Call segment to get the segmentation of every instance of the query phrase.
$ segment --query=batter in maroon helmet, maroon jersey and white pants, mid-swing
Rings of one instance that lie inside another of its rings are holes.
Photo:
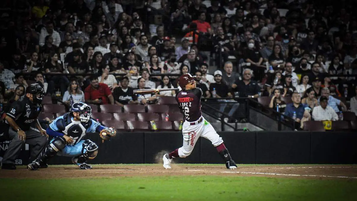
[[[189,73],[181,75],[178,84],[182,90],[176,94],[176,100],[185,118],[185,122],[182,125],[183,144],[182,147],[162,157],[165,169],[171,169],[172,158],[185,158],[189,156],[199,137],[204,137],[212,142],[226,162],[228,169],[237,168],[222,138],[217,134],[212,125],[202,117],[202,90],[196,88],[196,82],[192,75]]]

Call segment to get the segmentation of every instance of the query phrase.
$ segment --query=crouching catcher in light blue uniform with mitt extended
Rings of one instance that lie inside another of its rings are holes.
[[[56,118],[47,128],[47,133],[54,138],[27,168],[37,170],[51,157],[58,155],[72,157],[72,163],[80,169],[91,169],[92,166],[86,162],[97,156],[98,145],[82,138],[90,132],[100,132],[103,141],[116,135],[115,129],[104,127],[90,118],[91,112],[91,107],[85,103],[72,104],[71,112]]]

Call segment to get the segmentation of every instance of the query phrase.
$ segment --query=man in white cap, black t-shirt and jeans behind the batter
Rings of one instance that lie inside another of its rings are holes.
[[[211,83],[210,84],[210,93],[213,98],[233,98],[233,95],[228,89],[228,86],[224,83],[222,83],[222,72],[220,70],[216,70],[215,73],[213,73],[215,76],[215,81],[216,83]],[[232,117],[233,114],[236,112],[236,110],[239,107],[239,103],[237,103],[235,100],[229,100],[229,99],[217,99],[218,102],[220,102],[220,112],[224,112],[225,108],[227,107],[227,103],[230,106],[232,106],[231,110],[228,112],[228,116]],[[221,115],[218,115],[221,116]],[[227,122],[228,118],[224,118],[224,121]]]

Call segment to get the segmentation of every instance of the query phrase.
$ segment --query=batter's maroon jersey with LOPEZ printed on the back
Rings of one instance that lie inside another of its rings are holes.
[[[201,96],[202,90],[197,87],[191,90],[182,90],[176,94],[178,107],[181,109],[183,118],[188,122],[197,121],[201,117]]]

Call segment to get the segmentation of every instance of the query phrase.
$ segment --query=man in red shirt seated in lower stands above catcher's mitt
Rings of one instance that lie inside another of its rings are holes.
[[[91,77],[91,84],[84,90],[84,98],[89,104],[114,104],[114,98],[108,85],[99,83],[98,78]]]

